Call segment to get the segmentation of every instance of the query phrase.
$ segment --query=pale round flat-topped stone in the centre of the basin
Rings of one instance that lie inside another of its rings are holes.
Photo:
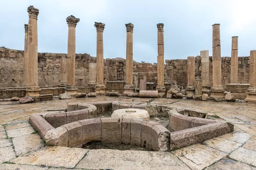
[[[143,109],[134,109],[134,108],[127,108],[127,109],[118,109],[113,111],[111,117],[118,117],[118,118],[139,118],[144,120],[149,120],[148,111]]]

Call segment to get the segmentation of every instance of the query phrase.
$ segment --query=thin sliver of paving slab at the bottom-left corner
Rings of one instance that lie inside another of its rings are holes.
[[[37,167],[21,164],[0,164],[0,170],[48,170],[48,167]]]

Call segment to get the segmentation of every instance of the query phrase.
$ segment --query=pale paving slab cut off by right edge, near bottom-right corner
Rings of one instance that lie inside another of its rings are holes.
[[[244,147],[239,147],[237,150],[233,151],[230,155],[231,159],[244,162],[256,166],[256,151],[250,150]]]

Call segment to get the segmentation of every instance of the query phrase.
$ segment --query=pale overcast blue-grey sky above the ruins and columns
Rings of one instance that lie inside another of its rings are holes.
[[[221,24],[222,57],[231,54],[232,36],[239,36],[239,56],[256,50],[256,0],[1,0],[0,46],[24,49],[30,5],[39,9],[38,52],[67,53],[69,15],[80,18],[76,53],[94,57],[95,21],[106,24],[104,58],[125,58],[126,23],[134,24],[137,62],[157,62],[157,23],[164,23],[165,59],[212,55],[214,23]]]

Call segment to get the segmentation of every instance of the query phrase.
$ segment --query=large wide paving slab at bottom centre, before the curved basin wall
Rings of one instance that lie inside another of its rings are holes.
[[[90,150],[76,168],[111,170],[189,170],[170,152]]]

